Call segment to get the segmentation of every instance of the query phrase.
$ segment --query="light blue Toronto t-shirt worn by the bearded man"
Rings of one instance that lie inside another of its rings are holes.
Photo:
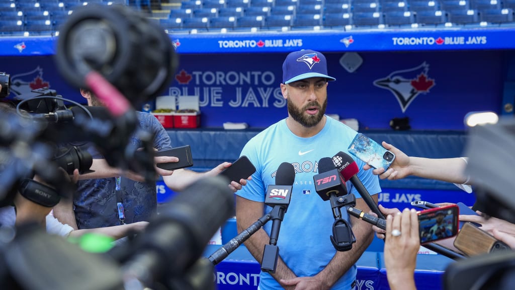
[[[315,191],[313,175],[318,174],[318,160],[332,157],[347,148],[357,134],[343,123],[330,117],[317,135],[301,138],[289,130],[286,119],[271,125],[253,137],[245,145],[241,155],[246,155],[256,167],[252,180],[236,195],[243,198],[264,202],[268,185],[276,184],[275,175],[279,165],[288,162],[295,168],[295,183],[291,201],[284,214],[277,241],[279,255],[297,277],[311,277],[329,264],[336,253],[330,236],[334,222],[331,204],[323,201]],[[355,158],[360,168],[357,174],[371,195],[381,192],[379,179],[371,170],[362,170],[365,165]],[[361,196],[350,182],[348,192],[356,198]],[[265,206],[265,212],[272,207]],[[342,217],[349,220],[345,208]],[[265,224],[265,231],[270,234],[271,222]],[[359,240],[356,241],[359,243]],[[356,266],[350,268],[332,289],[350,289],[356,278]],[[261,272],[260,289],[282,289],[280,284],[267,272]]]

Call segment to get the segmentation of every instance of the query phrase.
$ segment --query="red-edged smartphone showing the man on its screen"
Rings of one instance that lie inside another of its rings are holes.
[[[418,212],[420,244],[455,236],[459,207],[456,204]]]

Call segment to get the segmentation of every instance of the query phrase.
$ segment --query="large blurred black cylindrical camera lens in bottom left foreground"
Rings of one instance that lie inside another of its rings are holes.
[[[181,279],[201,257],[215,232],[234,212],[233,192],[220,176],[202,178],[177,195],[127,248],[122,271],[126,283],[150,288]],[[213,286],[214,266],[204,264],[205,283]],[[172,287],[174,288],[174,287]],[[192,289],[193,286],[177,289]],[[204,289],[204,288],[200,288]]]

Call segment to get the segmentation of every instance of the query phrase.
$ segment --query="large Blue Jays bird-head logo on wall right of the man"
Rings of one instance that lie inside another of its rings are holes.
[[[428,76],[428,71],[429,65],[423,62],[415,68],[394,71],[385,78],[374,80],[373,84],[392,92],[402,112],[405,112],[420,93],[427,93],[435,86],[435,80]]]

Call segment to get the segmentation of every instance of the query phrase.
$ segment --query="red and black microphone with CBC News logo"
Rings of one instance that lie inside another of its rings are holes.
[[[386,219],[383,213],[379,210],[377,203],[375,203],[375,201],[370,196],[367,188],[357,177],[356,174],[359,172],[359,169],[354,159],[352,159],[349,154],[340,151],[333,156],[333,162],[336,168],[338,168],[340,174],[343,176],[344,180],[350,180],[352,182],[352,185],[354,185],[357,192],[359,192],[359,195],[361,195],[361,197],[365,200],[368,207],[370,207],[370,210],[372,210],[372,212],[375,213],[378,217]]]

